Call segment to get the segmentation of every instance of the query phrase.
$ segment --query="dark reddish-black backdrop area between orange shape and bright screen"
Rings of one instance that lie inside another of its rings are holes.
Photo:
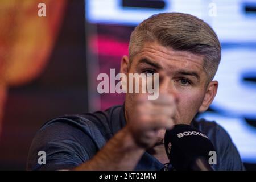
[[[0,137],[0,169],[26,169],[36,131],[48,119],[88,110],[84,1],[68,1],[49,63],[26,86],[10,88]]]

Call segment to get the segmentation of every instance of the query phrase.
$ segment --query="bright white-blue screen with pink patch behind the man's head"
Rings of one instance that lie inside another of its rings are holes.
[[[256,1],[242,0],[88,0],[89,109],[122,104],[120,94],[96,93],[97,74],[119,70],[128,53],[130,33],[149,16],[162,12],[195,15],[216,31],[222,59],[214,80],[218,93],[209,110],[198,115],[216,121],[228,131],[245,163],[256,164]],[[93,71],[93,72],[90,72]]]

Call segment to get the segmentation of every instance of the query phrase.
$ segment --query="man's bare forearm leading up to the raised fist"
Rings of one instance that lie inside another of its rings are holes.
[[[75,170],[133,170],[144,151],[124,127],[92,159]]]

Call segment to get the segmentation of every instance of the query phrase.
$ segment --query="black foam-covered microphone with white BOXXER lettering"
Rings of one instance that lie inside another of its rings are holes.
[[[175,125],[166,130],[164,147],[172,166],[178,171],[213,171],[209,152],[215,151],[207,135],[190,125]]]

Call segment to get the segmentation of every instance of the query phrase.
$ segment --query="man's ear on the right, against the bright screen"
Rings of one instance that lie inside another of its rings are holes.
[[[218,90],[218,82],[211,81],[209,83],[209,85],[207,86],[204,100],[203,100],[201,106],[199,107],[200,113],[203,113],[204,111],[206,111],[209,108],[210,104],[212,104],[212,101],[213,101],[214,97],[216,96],[217,90]]]

